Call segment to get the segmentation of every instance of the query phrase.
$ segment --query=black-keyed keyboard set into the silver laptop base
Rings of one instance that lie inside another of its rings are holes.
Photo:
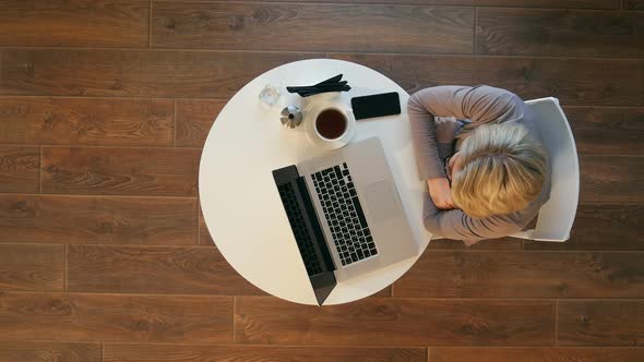
[[[342,265],[378,254],[347,164],[311,176]]]

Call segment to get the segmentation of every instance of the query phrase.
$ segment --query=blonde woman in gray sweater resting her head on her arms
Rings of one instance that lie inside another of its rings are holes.
[[[539,123],[516,95],[485,85],[431,87],[409,98],[408,116],[429,188],[425,227],[434,237],[467,245],[505,237],[548,201]]]

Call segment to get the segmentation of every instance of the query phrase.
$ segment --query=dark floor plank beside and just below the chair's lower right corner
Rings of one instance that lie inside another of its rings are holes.
[[[570,240],[524,242],[526,250],[644,250],[644,205],[580,205]]]

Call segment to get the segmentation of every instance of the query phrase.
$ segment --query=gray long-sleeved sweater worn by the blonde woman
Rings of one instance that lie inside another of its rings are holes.
[[[541,142],[539,123],[529,107],[505,89],[486,85],[431,87],[414,94],[407,107],[421,180],[444,177],[442,159],[458,148],[462,141],[480,124],[522,124],[530,136]],[[437,117],[468,121],[463,126],[451,126],[450,122],[437,122]],[[463,240],[467,245],[484,239],[506,237],[523,230],[537,216],[549,195],[550,177],[539,196],[527,208],[482,219],[470,217],[461,209],[438,209],[427,195],[424,206],[425,228],[434,237]]]

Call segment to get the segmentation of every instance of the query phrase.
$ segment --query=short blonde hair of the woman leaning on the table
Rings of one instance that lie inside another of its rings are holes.
[[[527,207],[546,181],[546,152],[521,125],[480,125],[463,142],[452,180],[456,205],[484,218]]]

